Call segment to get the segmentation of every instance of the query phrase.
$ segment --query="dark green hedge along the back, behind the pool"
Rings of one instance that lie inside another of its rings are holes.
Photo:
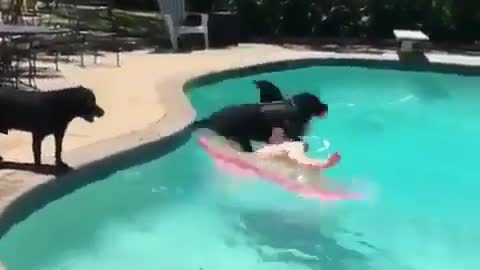
[[[150,7],[156,0],[116,0]],[[480,0],[188,0],[191,10],[238,12],[244,36],[392,38],[393,29],[420,29],[432,40],[480,39]]]

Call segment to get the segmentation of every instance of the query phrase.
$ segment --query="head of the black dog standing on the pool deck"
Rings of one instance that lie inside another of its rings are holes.
[[[97,105],[95,94],[92,90],[83,86],[74,89],[76,114],[78,117],[85,119],[88,122],[93,122],[95,117],[102,117],[105,111]]]

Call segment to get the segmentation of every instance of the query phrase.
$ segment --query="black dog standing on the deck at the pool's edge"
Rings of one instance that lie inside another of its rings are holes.
[[[82,86],[48,92],[0,92],[0,133],[8,134],[10,129],[32,133],[35,165],[41,165],[43,139],[53,134],[56,165],[67,166],[62,161],[62,143],[68,124],[76,117],[93,122],[103,115],[92,90]]]

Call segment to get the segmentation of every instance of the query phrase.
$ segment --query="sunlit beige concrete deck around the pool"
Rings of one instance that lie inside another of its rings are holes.
[[[480,66],[480,57],[426,54],[431,63]],[[187,126],[195,112],[183,93],[194,77],[269,62],[295,59],[368,59],[397,61],[394,51],[383,54],[338,54],[300,51],[279,46],[244,44],[239,47],[196,51],[187,54],[152,54],[136,51],[122,55],[122,67],[114,68],[114,55],[102,63],[82,69],[75,64],[60,66],[61,83],[39,83],[42,89],[82,84],[92,88],[106,115],[95,123],[74,120],[64,142],[64,160],[74,168],[103,160],[136,146],[168,137]],[[0,138],[5,161],[31,163],[29,134],[12,132]],[[52,164],[53,140],[43,144],[43,160]],[[51,174],[35,173],[28,166],[0,170],[0,223],[9,206],[29,191],[52,181]],[[22,169],[20,168],[20,169]],[[61,184],[61,183],[58,183]],[[1,266],[0,266],[1,269]]]

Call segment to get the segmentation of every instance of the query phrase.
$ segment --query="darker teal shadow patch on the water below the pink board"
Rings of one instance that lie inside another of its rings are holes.
[[[340,245],[332,231],[322,230],[328,225],[320,219],[273,210],[244,211],[240,216],[243,226],[237,230],[264,261],[303,264],[311,269],[369,269],[368,258]]]

